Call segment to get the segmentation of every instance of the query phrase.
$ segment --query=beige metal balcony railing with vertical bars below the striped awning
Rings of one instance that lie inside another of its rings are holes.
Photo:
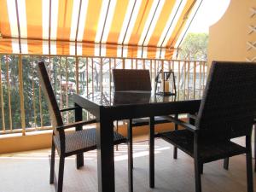
[[[161,68],[175,73],[177,96],[198,97],[207,79],[207,61],[180,61],[81,56],[0,55],[0,134],[50,129],[46,101],[37,74],[38,61],[48,66],[60,108],[73,106],[73,93],[112,91],[113,68],[148,69],[154,79]],[[85,115],[88,115],[84,112]],[[63,114],[67,121],[72,112]]]

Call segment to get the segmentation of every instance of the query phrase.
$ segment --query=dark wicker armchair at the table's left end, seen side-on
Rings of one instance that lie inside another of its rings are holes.
[[[54,91],[49,82],[49,76],[44,66],[44,62],[38,63],[38,75],[44,96],[48,103],[49,114],[53,126],[51,160],[50,160],[50,177],[49,183],[54,183],[55,179],[55,148],[60,155],[59,175],[55,189],[57,192],[62,191],[64,162],[67,156],[78,154],[83,155],[83,152],[96,149],[96,129],[82,129],[82,125],[96,123],[95,119],[88,121],[79,121],[68,125],[63,124],[61,111],[72,110],[75,108],[67,108],[60,110],[55,99]],[[76,128],[76,131],[67,131],[69,128]],[[114,144],[126,143],[126,138],[114,132]],[[82,164],[82,165],[81,165]],[[83,166],[84,162],[78,165],[77,168]]]

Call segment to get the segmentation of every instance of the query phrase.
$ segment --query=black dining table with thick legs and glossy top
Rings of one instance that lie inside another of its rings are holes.
[[[196,113],[201,98],[160,96],[146,91],[99,92],[73,95],[75,120],[82,120],[82,109],[96,117],[98,191],[114,189],[113,121],[149,119],[149,187],[154,188],[154,117],[178,113]],[[83,154],[77,156],[83,165]],[[130,167],[131,169],[131,167]]]

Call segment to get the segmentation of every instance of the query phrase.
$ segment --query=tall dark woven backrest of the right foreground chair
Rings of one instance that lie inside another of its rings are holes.
[[[195,121],[201,139],[251,134],[256,111],[256,63],[212,61]]]

